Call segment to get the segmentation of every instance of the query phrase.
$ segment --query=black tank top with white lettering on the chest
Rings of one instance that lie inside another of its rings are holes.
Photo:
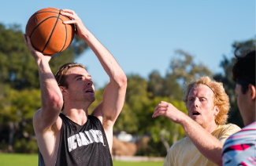
[[[55,165],[106,165],[113,166],[101,121],[88,115],[82,126],[60,114],[62,119],[61,137]],[[44,166],[43,156],[39,151],[39,166]]]

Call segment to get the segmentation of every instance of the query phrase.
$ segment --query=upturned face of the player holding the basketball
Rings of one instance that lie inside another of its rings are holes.
[[[94,102],[95,87],[91,81],[91,75],[82,67],[72,67],[66,73],[65,95],[72,101]]]

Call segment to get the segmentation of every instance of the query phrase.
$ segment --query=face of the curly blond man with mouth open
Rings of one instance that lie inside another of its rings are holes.
[[[214,117],[218,110],[214,106],[213,95],[213,91],[206,85],[195,85],[188,94],[187,114],[202,128],[215,124]]]

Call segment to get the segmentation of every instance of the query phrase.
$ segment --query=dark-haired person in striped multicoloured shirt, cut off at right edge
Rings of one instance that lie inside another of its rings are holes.
[[[236,55],[232,74],[236,81],[237,104],[246,127],[231,135],[222,150],[223,165],[256,165],[256,51]]]

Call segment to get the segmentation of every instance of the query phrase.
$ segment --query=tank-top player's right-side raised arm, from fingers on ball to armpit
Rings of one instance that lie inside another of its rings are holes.
[[[82,21],[74,11],[62,9],[61,14],[72,18],[72,20],[65,21],[64,23],[76,24],[77,36],[83,38],[83,40],[87,42],[87,45],[89,45],[92,51],[95,52],[95,55],[102,64],[106,74],[109,75],[110,82],[106,85],[104,90],[102,103],[95,108],[92,115],[98,117],[99,120],[102,121],[111,150],[113,124],[117,120],[117,117],[124,106],[127,78],[124,71],[117,63],[117,60],[115,60],[111,53],[98,42],[97,38],[84,27]]]

